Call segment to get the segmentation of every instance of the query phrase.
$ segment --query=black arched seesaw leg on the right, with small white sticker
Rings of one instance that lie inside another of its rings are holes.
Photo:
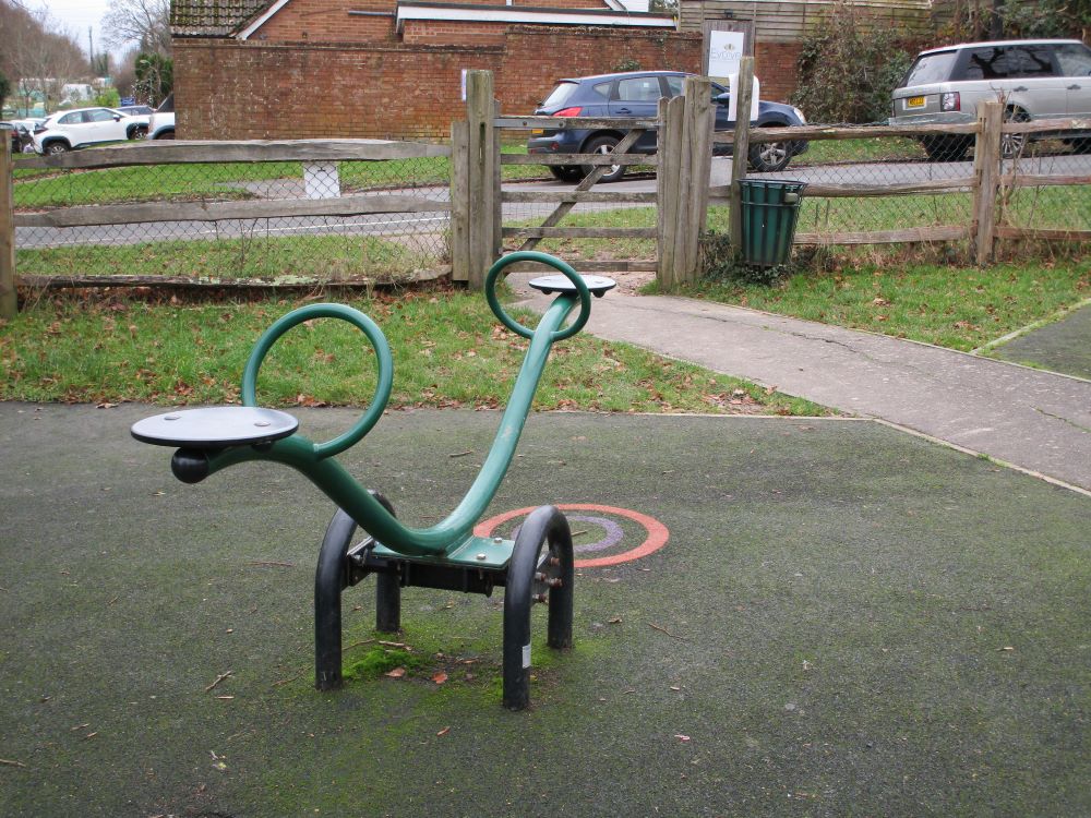
[[[572,533],[554,506],[542,506],[527,517],[515,540],[504,590],[504,707],[525,710],[530,705],[530,606],[535,573],[542,543],[549,541],[549,572],[560,584],[550,587],[549,645],[572,645]],[[555,596],[554,596],[555,594]],[[556,602],[556,610],[553,603]]]

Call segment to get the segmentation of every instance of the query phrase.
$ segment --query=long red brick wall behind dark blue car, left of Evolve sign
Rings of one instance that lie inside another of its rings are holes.
[[[700,36],[660,31],[509,29],[478,47],[176,39],[179,139],[446,139],[463,69],[495,76],[504,113],[529,113],[560,76],[700,70]]]

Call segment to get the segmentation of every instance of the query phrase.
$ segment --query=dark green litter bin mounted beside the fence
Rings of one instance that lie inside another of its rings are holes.
[[[792,255],[804,182],[743,179],[743,260],[758,267],[784,264]]]

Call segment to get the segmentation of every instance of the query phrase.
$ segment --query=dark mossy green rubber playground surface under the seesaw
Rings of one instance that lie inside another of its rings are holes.
[[[614,563],[578,569],[572,652],[536,611],[511,713],[502,590],[407,589],[392,638],[365,580],[315,691],[332,505],[271,466],[175,481],[128,434],[157,411],[0,404],[0,815],[1091,814],[1086,495],[868,421],[532,416],[489,516],[578,504]],[[341,459],[432,525],[496,421],[391,413]]]

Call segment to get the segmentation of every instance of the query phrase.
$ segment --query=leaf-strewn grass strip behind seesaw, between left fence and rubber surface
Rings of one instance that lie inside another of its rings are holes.
[[[379,323],[391,344],[391,408],[506,404],[526,342],[497,324],[481,296],[401,293],[352,303]],[[0,323],[0,400],[237,401],[252,345],[295,305],[43,300],[16,321]],[[277,344],[259,392],[271,406],[359,405],[370,399],[374,375],[367,340],[344,322],[321,321]],[[554,347],[536,406],[827,413],[805,400],[586,335]]]

